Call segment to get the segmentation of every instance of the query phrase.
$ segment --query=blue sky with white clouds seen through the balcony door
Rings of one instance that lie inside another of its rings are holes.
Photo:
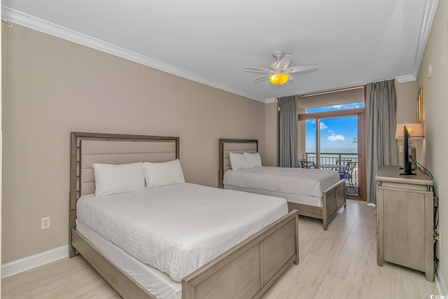
[[[335,111],[363,107],[364,103],[353,103],[306,109],[306,113]],[[321,127],[321,153],[356,153],[358,144],[358,118],[356,116],[323,118]],[[306,151],[314,153],[316,146],[316,120],[305,121]]]

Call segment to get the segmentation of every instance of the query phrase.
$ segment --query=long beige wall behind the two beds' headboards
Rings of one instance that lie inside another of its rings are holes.
[[[71,131],[179,136],[186,181],[207,186],[218,186],[219,138],[258,139],[266,160],[265,104],[19,25],[2,28],[2,263],[67,244]]]

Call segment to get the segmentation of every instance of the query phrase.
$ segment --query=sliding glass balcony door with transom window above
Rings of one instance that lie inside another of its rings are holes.
[[[299,97],[298,155],[346,180],[347,197],[365,200],[365,90]],[[331,106],[330,106],[331,105]]]

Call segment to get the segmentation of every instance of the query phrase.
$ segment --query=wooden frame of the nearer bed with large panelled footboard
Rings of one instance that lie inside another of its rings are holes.
[[[132,144],[141,142],[171,144],[169,147],[172,147],[172,151],[166,155],[165,153],[160,155],[158,151],[148,153],[150,157],[154,155],[158,157],[149,158],[149,162],[179,158],[179,137],[71,132],[69,256],[73,257],[76,253],[80,253],[123,298],[155,298],[132,277],[113,265],[76,230],[76,201],[81,195],[88,194],[87,191],[92,193],[92,185],[94,188],[94,182],[85,181],[85,177],[93,174],[91,169],[85,169],[82,165],[85,165],[87,160],[87,164],[90,164],[95,158],[94,155],[86,156],[82,162],[84,140],[102,141],[103,148],[109,141],[125,142],[127,148],[125,152],[109,151],[108,148],[106,153],[100,154],[101,159],[97,161],[118,164],[148,161],[148,157],[144,157],[145,154],[142,155],[140,150],[129,151]],[[120,146],[123,142],[120,142]],[[108,146],[109,144],[114,148],[113,144],[118,143],[109,142]],[[111,158],[108,158],[109,156]],[[182,298],[260,298],[290,265],[293,263],[297,265],[299,262],[297,215],[297,211],[290,211],[221,256],[188,274],[182,280]]]

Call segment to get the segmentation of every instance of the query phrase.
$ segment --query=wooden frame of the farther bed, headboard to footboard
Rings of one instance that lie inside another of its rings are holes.
[[[218,186],[224,188],[223,179],[224,173],[230,169],[229,153],[256,153],[258,152],[258,140],[255,139],[219,139],[219,174]],[[330,186],[322,195],[322,207],[314,207],[306,204],[297,204],[295,202],[288,202],[290,211],[297,210],[299,215],[309,216],[313,218],[322,219],[323,230],[327,230],[329,221],[337,214],[341,207],[346,207],[346,190],[345,180],[341,180]],[[241,188],[244,189],[244,188]],[[254,190],[247,190],[253,192]],[[272,196],[284,197],[284,194],[279,193],[260,193]]]

